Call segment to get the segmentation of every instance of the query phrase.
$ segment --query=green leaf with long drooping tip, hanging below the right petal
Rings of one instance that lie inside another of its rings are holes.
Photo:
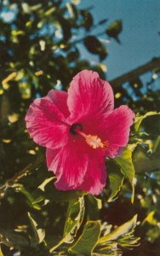
[[[117,165],[120,166],[121,172],[124,177],[129,180],[132,186],[132,196],[131,201],[134,202],[134,165],[132,162],[132,150],[129,147],[123,150],[123,154],[120,157],[115,158]]]

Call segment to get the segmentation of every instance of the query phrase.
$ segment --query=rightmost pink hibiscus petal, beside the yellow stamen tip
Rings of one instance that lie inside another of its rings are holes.
[[[128,106],[116,108],[101,122],[101,138],[109,142],[106,155],[113,158],[129,142],[130,126],[133,125],[134,112]]]

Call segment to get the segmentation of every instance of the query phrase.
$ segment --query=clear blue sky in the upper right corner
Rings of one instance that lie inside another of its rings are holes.
[[[95,23],[107,18],[108,26],[114,20],[123,20],[123,32],[120,34],[122,44],[114,40],[106,44],[109,55],[104,63],[108,79],[114,79],[160,56],[160,35],[157,33],[160,31],[160,0],[81,0],[80,8],[89,6],[94,6],[91,12]],[[103,27],[100,29],[102,31]],[[83,56],[97,60],[87,51],[83,52]]]

